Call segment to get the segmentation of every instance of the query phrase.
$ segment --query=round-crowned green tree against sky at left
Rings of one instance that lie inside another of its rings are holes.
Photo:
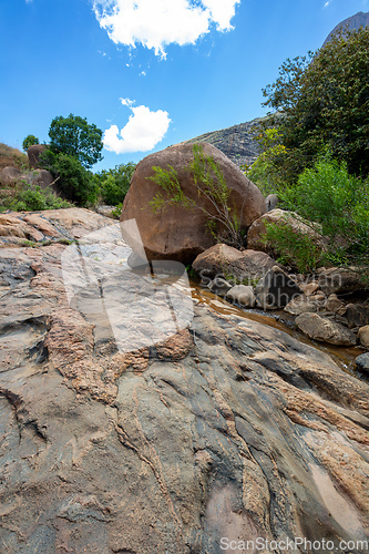
[[[79,115],[59,115],[50,124],[50,147],[57,153],[63,152],[75,157],[83,167],[89,168],[102,160],[102,133],[101,129]]]

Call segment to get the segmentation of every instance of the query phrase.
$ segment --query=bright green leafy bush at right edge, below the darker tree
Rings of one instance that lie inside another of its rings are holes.
[[[348,173],[347,165],[321,157],[312,168],[305,170],[298,183],[279,192],[284,207],[303,219],[320,225],[326,237],[319,250],[312,239],[288,232],[286,226],[267,226],[266,239],[274,244],[281,259],[294,255],[300,270],[320,263],[362,265],[369,252],[369,184]]]

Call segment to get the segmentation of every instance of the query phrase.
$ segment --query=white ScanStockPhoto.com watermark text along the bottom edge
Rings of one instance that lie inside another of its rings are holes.
[[[310,540],[303,536],[284,540],[268,540],[262,536],[252,541],[232,540],[227,536],[221,538],[221,550],[226,552],[327,552],[327,553],[349,553],[349,552],[369,552],[369,541],[339,541],[319,538]]]

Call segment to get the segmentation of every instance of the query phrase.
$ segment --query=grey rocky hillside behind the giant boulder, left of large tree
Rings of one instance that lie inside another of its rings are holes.
[[[221,129],[212,133],[185,141],[185,143],[208,142],[221,150],[238,166],[252,164],[259,154],[258,145],[253,141],[253,127],[260,121],[256,119],[232,127]]]

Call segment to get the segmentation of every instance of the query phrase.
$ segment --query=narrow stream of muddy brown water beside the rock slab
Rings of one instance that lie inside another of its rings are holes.
[[[268,325],[275,329],[287,332],[291,337],[305,342],[306,345],[314,346],[318,350],[328,353],[334,361],[347,373],[369,382],[369,377],[356,369],[355,359],[363,353],[360,347],[337,347],[332,345],[321,343],[316,340],[310,340],[305,337],[300,331],[298,331],[294,324],[294,318],[288,317],[283,310],[273,310],[270,312],[265,312],[257,309],[246,309],[238,305],[233,305],[227,300],[214,295],[207,289],[202,288],[195,283],[191,283],[192,296],[195,301],[199,304],[206,304],[218,314],[225,316],[238,316],[253,321],[258,321],[259,324]]]

